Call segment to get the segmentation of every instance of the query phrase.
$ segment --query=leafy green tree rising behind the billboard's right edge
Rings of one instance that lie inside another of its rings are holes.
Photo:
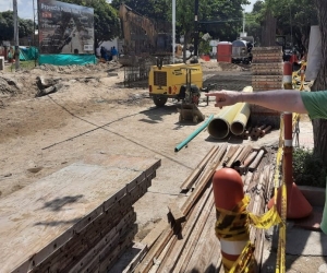
[[[66,0],[65,2],[94,9],[95,48],[104,40],[120,36],[121,27],[118,12],[106,0]]]

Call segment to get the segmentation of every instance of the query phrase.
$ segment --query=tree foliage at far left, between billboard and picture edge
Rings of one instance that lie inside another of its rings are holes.
[[[12,40],[14,38],[13,12],[0,12],[0,40]],[[33,35],[33,21],[19,19],[20,38]]]

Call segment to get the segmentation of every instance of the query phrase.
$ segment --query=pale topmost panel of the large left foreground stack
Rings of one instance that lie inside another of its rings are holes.
[[[1,199],[3,272],[38,265],[72,238],[80,221],[94,211],[98,214],[102,203],[143,171],[78,163]]]

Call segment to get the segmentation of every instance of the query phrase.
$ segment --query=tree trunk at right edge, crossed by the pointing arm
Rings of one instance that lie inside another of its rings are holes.
[[[318,12],[319,28],[322,33],[322,64],[312,91],[327,91],[327,2],[314,0]],[[326,106],[327,107],[327,106]],[[327,120],[313,120],[314,154],[319,156],[327,165]]]

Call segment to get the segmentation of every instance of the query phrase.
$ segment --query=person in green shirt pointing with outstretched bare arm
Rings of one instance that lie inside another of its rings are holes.
[[[327,92],[296,92],[293,90],[271,90],[263,92],[221,91],[205,94],[216,97],[216,107],[250,103],[277,111],[308,114],[311,119],[327,119]],[[322,230],[327,234],[327,206],[324,207]]]

